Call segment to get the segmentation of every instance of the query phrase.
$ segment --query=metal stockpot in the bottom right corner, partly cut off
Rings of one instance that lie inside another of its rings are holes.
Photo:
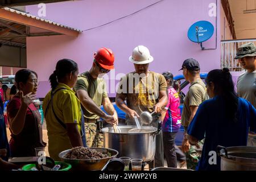
[[[217,147],[221,171],[256,171],[256,147]]]

